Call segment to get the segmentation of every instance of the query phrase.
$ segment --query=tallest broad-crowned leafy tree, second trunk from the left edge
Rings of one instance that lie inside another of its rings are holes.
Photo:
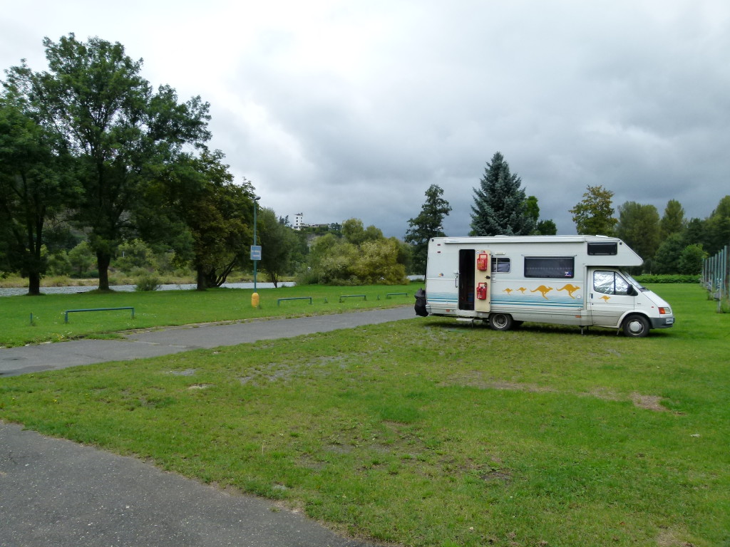
[[[122,44],[99,38],[80,42],[74,34],[43,41],[48,71],[26,75],[28,101],[44,125],[53,126],[77,160],[84,192],[76,220],[88,229],[96,253],[99,289],[109,288],[108,269],[115,248],[134,226],[142,182],[171,163],[186,145],[210,138],[208,104],[199,97],[180,104],[174,89],[154,93]]]

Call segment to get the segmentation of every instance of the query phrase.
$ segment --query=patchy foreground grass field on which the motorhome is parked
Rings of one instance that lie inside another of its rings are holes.
[[[730,315],[656,290],[649,338],[420,318],[0,379],[0,418],[399,545],[727,547]]]

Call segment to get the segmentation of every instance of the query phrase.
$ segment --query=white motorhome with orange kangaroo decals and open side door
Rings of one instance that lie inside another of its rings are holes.
[[[610,327],[627,336],[674,325],[669,304],[621,271],[642,258],[605,236],[432,238],[426,311],[482,319]]]

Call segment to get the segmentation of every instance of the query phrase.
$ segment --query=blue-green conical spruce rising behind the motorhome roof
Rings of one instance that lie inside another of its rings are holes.
[[[480,187],[474,189],[471,236],[527,236],[534,220],[527,210],[522,179],[510,173],[510,165],[495,152],[484,169]]]

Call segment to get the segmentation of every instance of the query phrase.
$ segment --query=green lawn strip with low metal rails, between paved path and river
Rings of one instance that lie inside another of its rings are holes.
[[[260,306],[251,306],[253,290],[211,289],[151,292],[81,292],[71,295],[0,297],[0,346],[22,346],[46,341],[93,336],[120,330],[191,323],[243,321],[261,317],[337,314],[356,309],[413,304],[419,284],[370,287],[280,287],[259,289]],[[391,293],[403,293],[388,296]],[[365,298],[342,295],[364,295]],[[280,298],[311,297],[309,300]],[[69,314],[68,309],[134,307],[131,311],[94,311]],[[33,323],[31,324],[31,316]]]

